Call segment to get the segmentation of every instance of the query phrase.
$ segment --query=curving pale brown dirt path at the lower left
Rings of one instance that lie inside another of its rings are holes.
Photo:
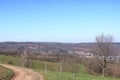
[[[14,71],[15,76],[12,80],[44,80],[42,75],[32,70],[6,64],[2,66],[12,69]]]

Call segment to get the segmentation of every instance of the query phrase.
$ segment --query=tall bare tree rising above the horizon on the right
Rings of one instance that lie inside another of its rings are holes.
[[[114,55],[113,36],[111,35],[98,35],[94,47],[94,53],[97,60],[102,66],[102,77],[105,76],[105,69],[107,67],[108,58]]]

